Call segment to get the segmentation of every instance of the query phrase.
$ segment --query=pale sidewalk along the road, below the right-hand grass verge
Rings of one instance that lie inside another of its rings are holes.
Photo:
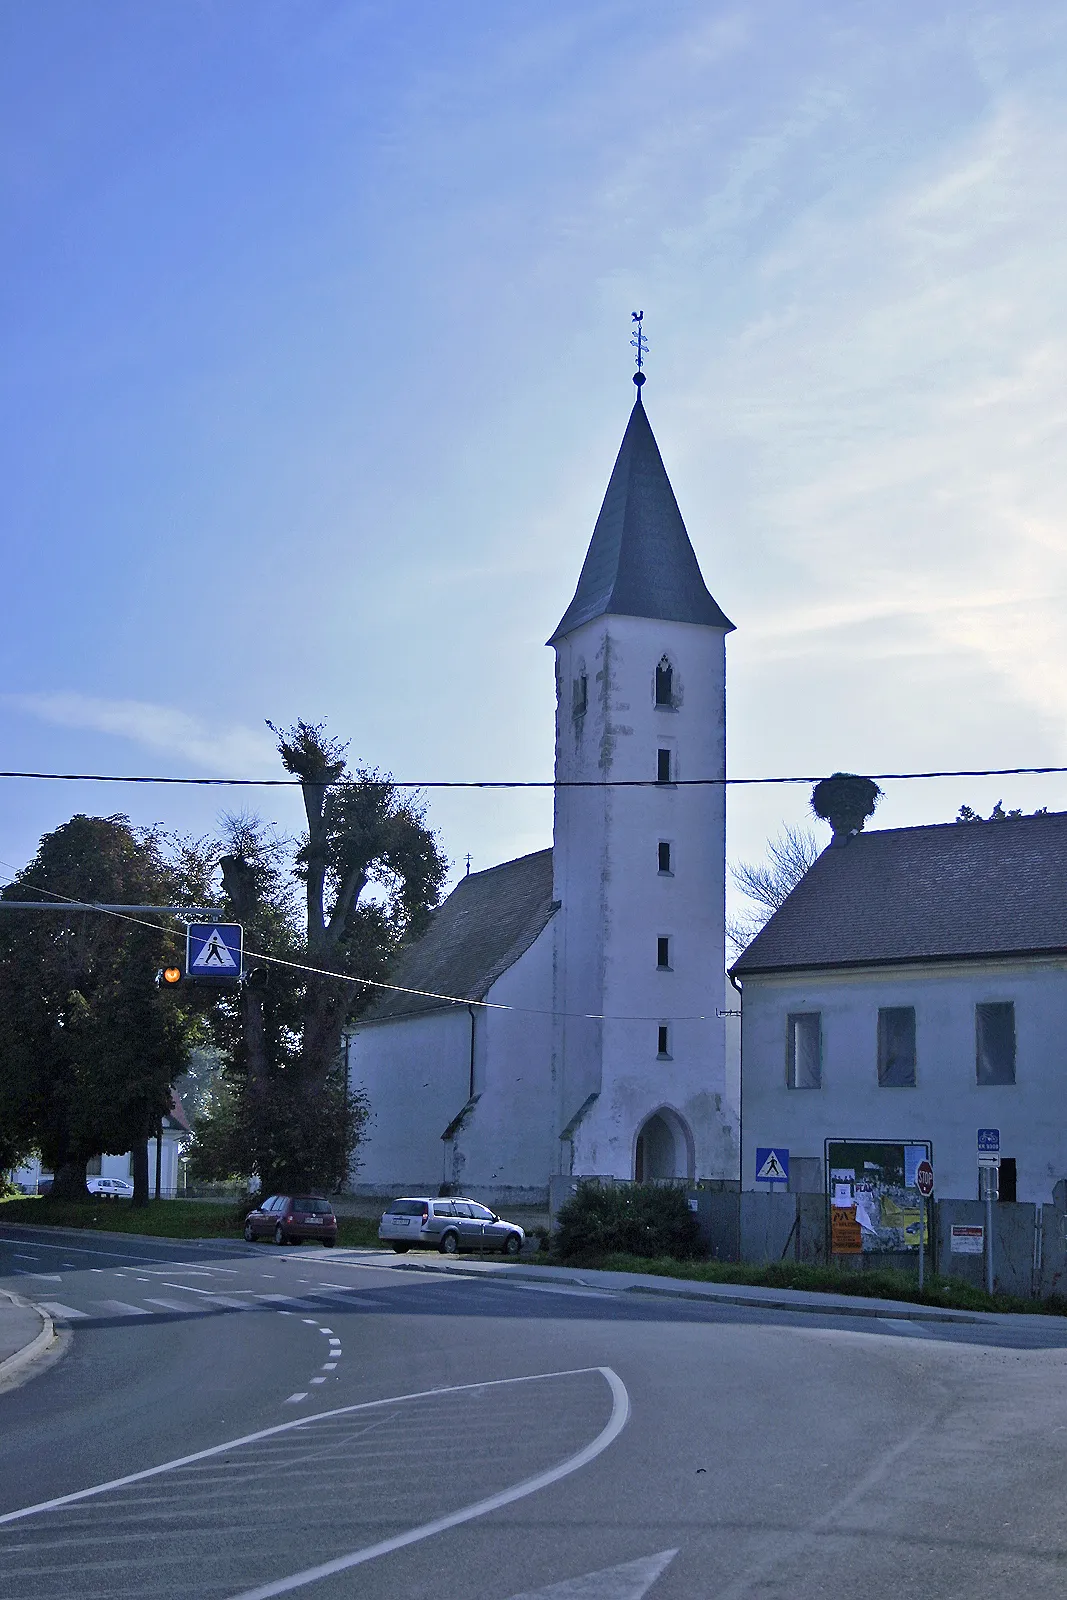
[[[378,1251],[368,1251],[378,1254]],[[461,1272],[514,1278],[518,1283],[566,1283],[608,1294],[654,1294],[662,1299],[712,1301],[718,1306],[747,1306],[755,1310],[808,1312],[816,1317],[891,1317],[894,1322],[971,1323],[973,1326],[1030,1325],[1035,1315],[1024,1312],[949,1310],[939,1306],[917,1306],[912,1301],[870,1299],[859,1294],[822,1294],[811,1290],[766,1290],[734,1283],[697,1283],[691,1278],[661,1278],[648,1272],[590,1272],[581,1267],[534,1267],[522,1262],[478,1261],[403,1261],[394,1272]]]

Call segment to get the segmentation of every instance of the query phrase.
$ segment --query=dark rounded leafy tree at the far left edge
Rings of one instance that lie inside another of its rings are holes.
[[[45,834],[3,898],[163,906],[179,888],[160,835],[125,816],[75,816]],[[157,989],[174,950],[173,933],[99,912],[0,915],[0,1102],[56,1194],[83,1195],[90,1157],[136,1152],[170,1110],[195,1026]]]

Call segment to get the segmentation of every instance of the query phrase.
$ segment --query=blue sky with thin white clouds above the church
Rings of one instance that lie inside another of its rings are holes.
[[[550,776],[637,307],[731,771],[1067,763],[1065,90],[1043,0],[5,0],[2,765],[270,776],[302,715]],[[1067,781],[878,821],[1000,795]],[[0,858],[234,803],[8,781]],[[430,819],[480,867],[550,802]]]

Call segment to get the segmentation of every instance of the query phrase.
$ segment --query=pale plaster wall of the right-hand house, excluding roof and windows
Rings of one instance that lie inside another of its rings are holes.
[[[979,1086],[974,1006],[1013,1000],[1016,1082]],[[878,1086],[878,1008],[915,1006],[915,1088]],[[822,1088],[785,1083],[790,1011],[822,1016]],[[742,1187],[755,1147],[784,1146],[822,1162],[824,1139],[933,1142],[939,1194],[977,1195],[976,1134],[995,1126],[1017,1163],[1017,1198],[1049,1202],[1067,1174],[1062,1101],[1067,963],[998,960],[939,966],[801,973],[744,981]]]

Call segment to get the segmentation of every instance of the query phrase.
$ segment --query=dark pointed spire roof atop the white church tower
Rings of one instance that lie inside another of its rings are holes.
[[[635,381],[643,376],[633,374]],[[549,643],[598,616],[648,616],[728,632],[734,626],[701,576],[640,384],[574,598]]]

